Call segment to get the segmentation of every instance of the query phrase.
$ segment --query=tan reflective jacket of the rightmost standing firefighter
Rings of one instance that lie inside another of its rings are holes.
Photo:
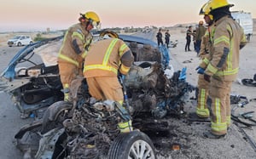
[[[222,81],[234,81],[239,70],[239,51],[247,43],[239,24],[224,16],[214,23],[209,65],[205,73]]]

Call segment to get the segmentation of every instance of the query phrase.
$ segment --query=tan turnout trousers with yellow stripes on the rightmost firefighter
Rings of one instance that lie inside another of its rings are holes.
[[[212,133],[222,135],[230,127],[230,91],[232,81],[220,81],[211,78],[209,96],[212,99],[211,129]]]

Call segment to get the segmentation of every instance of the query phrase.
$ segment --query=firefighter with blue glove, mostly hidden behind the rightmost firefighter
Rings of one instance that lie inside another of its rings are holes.
[[[209,57],[210,57],[210,47],[212,45],[212,39],[210,38],[212,31],[212,14],[209,14],[209,9],[206,8],[207,3],[205,3],[199,15],[204,15],[204,20],[206,21],[208,27],[205,35],[201,38],[201,49],[199,53],[199,57],[201,58],[201,65],[196,68],[198,75],[198,94],[197,94],[197,106],[196,106],[196,116],[199,118],[207,118],[210,116],[210,111],[207,108],[207,98],[208,98],[208,90],[209,90],[209,82],[204,79],[204,71],[207,68]]]

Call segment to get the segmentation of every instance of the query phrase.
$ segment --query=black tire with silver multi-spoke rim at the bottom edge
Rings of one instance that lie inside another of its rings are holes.
[[[108,150],[108,159],[119,158],[155,159],[154,145],[143,132],[120,133]]]

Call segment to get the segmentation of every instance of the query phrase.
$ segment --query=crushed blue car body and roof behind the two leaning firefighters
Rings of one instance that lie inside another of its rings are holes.
[[[129,43],[136,61],[157,61],[165,65],[153,41],[129,35],[119,37]],[[62,38],[45,39],[20,49],[1,73],[0,92],[10,94],[21,118],[40,117],[49,105],[63,99],[57,65]]]

